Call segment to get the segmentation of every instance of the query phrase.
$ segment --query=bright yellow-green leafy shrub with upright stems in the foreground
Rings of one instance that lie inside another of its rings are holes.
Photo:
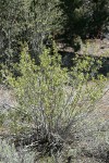
[[[11,121],[16,128],[41,126],[47,133],[65,135],[77,116],[94,109],[102,92],[104,77],[93,77],[88,84],[93,64],[89,58],[75,59],[71,72],[62,68],[55,45],[53,55],[45,49],[39,59],[40,64],[36,65],[24,48],[19,64],[21,76],[7,76],[19,104]]]

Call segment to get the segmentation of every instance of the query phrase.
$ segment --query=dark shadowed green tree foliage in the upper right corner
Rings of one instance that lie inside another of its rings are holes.
[[[108,0],[61,0],[66,17],[65,39],[100,37],[109,21]]]

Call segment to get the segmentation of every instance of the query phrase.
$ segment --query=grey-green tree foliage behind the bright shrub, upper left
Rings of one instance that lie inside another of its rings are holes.
[[[62,28],[59,4],[59,0],[0,1],[1,63],[12,68],[13,63],[20,61],[21,42],[25,41],[37,61],[47,36]]]

